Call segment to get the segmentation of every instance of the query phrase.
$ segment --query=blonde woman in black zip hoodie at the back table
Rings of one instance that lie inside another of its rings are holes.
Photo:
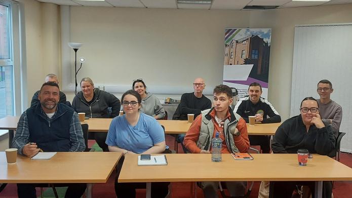
[[[72,101],[72,108],[77,113],[84,112],[87,117],[91,118],[112,118],[119,115],[121,103],[118,98],[94,88],[94,83],[89,77],[82,78],[80,85],[82,91],[77,93]],[[109,108],[111,111],[108,110]],[[106,133],[92,132],[89,135],[93,136],[89,139],[95,139],[103,151],[108,151],[105,144]]]

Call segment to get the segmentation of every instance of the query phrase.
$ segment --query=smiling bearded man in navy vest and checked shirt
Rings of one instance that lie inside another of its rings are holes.
[[[12,146],[18,153],[32,157],[41,149],[45,152],[80,152],[86,148],[81,123],[74,110],[59,101],[59,86],[44,83],[38,99],[40,103],[24,111],[17,124]],[[72,165],[74,166],[74,165]],[[36,197],[35,187],[48,184],[17,184],[18,197]],[[81,197],[87,184],[54,184],[68,186],[65,197]]]

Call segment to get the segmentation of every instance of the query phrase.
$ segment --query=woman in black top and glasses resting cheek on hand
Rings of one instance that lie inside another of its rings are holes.
[[[289,118],[278,128],[271,143],[272,152],[297,153],[298,149],[307,149],[309,153],[335,155],[335,136],[331,126],[325,126],[322,122],[317,100],[304,98],[300,112],[300,115]],[[309,186],[314,197],[314,181],[270,182],[270,189],[271,185],[273,197],[291,197],[296,185]],[[323,197],[331,197],[331,193],[332,182],[324,181]]]

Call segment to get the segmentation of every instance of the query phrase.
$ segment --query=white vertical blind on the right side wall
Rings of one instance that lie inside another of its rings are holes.
[[[317,84],[333,85],[331,99],[342,106],[341,151],[352,152],[352,24],[296,25],[294,37],[291,111],[298,115],[303,98],[319,99]]]

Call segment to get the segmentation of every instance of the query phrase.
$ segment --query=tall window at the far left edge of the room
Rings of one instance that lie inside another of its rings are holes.
[[[11,5],[0,2],[0,118],[14,115]]]

